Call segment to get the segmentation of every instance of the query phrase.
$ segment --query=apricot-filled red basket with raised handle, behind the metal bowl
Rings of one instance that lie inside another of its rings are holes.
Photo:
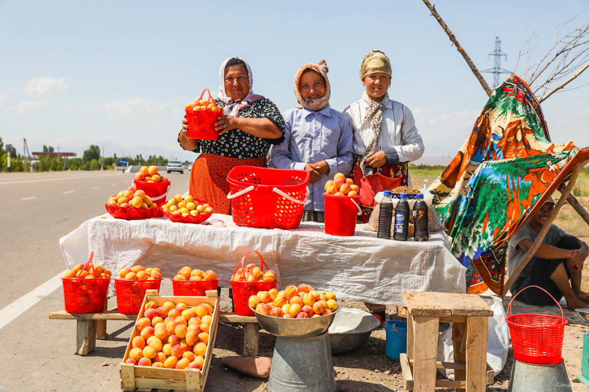
[[[244,260],[247,255],[255,252],[260,256],[262,262],[260,266],[250,263],[247,266],[243,266]],[[239,267],[241,266],[241,270]],[[264,266],[266,272],[264,273]],[[268,269],[262,254],[256,252],[256,250],[250,250],[241,257],[241,261],[237,264],[237,268],[230,279],[231,288],[233,289],[233,307],[235,313],[241,316],[255,316],[255,313],[248,306],[247,300],[252,295],[255,295],[259,291],[276,290],[276,284],[279,282],[276,280],[276,273],[273,270]]]

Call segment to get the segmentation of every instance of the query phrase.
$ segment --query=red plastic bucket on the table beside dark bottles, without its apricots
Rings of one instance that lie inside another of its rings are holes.
[[[323,193],[325,197],[325,234],[332,236],[353,236],[356,232],[356,220],[362,214],[360,196],[333,196]]]

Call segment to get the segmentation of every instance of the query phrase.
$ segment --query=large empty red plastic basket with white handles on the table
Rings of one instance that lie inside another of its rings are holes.
[[[227,174],[227,181],[237,226],[294,229],[300,225],[309,172],[237,166]]]

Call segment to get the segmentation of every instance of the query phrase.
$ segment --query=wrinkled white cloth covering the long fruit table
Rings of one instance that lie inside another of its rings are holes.
[[[308,283],[345,299],[390,305],[402,305],[404,291],[465,292],[465,268],[448,251],[450,238],[442,232],[432,233],[428,242],[398,242],[376,238],[363,230],[366,225],[356,225],[355,236],[337,237],[325,234],[320,223],[269,230],[236,226],[227,215],[214,214],[209,221],[215,219],[226,226],[103,215],[82,223],[59,245],[70,268],[85,263],[94,250],[94,262],[113,274],[141,264],[160,267],[164,278],[171,278],[190,266],[214,270],[223,287],[230,287],[227,279],[241,257],[257,250],[282,288]],[[249,262],[259,264],[256,254]]]

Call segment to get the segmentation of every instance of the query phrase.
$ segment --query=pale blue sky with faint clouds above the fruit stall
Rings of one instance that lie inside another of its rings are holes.
[[[513,71],[535,31],[532,61],[554,43],[555,27],[589,1],[439,0],[436,10],[479,69],[502,41]],[[567,29],[568,31],[568,29]],[[422,1],[1,1],[0,137],[22,153],[51,145],[78,156],[194,159],[177,143],[184,105],[204,88],[219,91],[219,66],[250,63],[253,91],[281,112],[296,105],[294,73],[325,59],[330,105],[360,99],[360,62],[381,49],[392,63],[389,96],[412,110],[424,156],[454,156],[487,95]],[[523,76],[525,64],[516,73]],[[489,85],[492,74],[484,73]],[[509,75],[502,75],[506,79]],[[589,71],[571,86],[589,83]],[[589,146],[589,85],[542,103],[552,142]],[[449,160],[449,158],[448,158]]]

